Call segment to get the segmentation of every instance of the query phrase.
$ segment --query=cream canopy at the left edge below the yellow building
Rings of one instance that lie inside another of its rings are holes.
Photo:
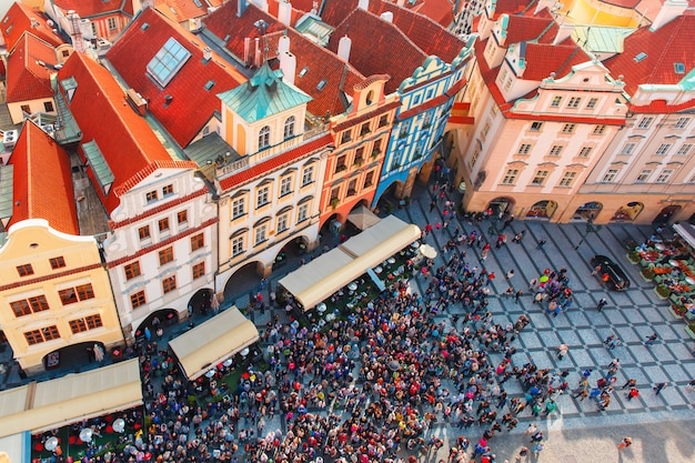
[[[37,434],[141,404],[140,362],[132,359],[0,392],[0,437],[27,430]]]

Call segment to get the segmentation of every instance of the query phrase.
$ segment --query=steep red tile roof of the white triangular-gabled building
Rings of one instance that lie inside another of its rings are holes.
[[[59,82],[68,78],[78,85],[68,105],[82,132],[82,142],[97,141],[114,177],[107,195],[97,188],[109,214],[120,204],[119,194],[154,170],[195,169],[192,161],[171,158],[147,121],[130,108],[125,93],[105,68],[74,52],[58,72]]]

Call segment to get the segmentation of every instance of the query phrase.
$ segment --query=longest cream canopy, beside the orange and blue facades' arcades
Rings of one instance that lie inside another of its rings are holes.
[[[420,239],[420,228],[389,215],[340,246],[288,274],[280,284],[313,309],[367,269]]]

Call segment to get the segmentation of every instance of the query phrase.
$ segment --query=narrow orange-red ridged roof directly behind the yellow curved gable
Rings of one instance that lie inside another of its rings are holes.
[[[46,219],[53,229],[79,235],[68,153],[37,124],[27,121],[9,164],[14,167],[10,227],[27,219]]]

